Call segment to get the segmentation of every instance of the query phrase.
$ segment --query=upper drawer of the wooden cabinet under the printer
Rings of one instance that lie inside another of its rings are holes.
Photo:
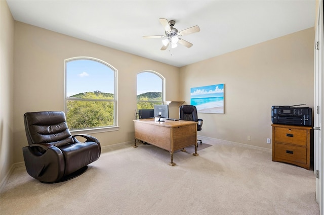
[[[306,146],[307,130],[296,128],[275,128],[274,142]]]

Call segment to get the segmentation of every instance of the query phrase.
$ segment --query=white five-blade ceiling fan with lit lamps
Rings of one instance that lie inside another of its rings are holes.
[[[171,48],[177,47],[178,43],[190,48],[193,44],[184,39],[179,38],[179,36],[185,36],[200,31],[200,28],[197,25],[184,29],[182,31],[178,31],[178,29],[173,27],[176,24],[176,21],[174,20],[168,21],[167,19],[163,19],[163,18],[160,18],[159,21],[165,29],[165,35],[143,36],[143,38],[165,38],[166,37],[166,39],[162,40],[163,46],[161,47],[161,50],[166,50],[170,43],[171,43]]]

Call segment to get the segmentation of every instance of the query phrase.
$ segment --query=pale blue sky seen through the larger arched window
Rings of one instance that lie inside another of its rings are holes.
[[[66,63],[66,96],[85,92],[114,93],[114,71],[93,60],[74,60]]]

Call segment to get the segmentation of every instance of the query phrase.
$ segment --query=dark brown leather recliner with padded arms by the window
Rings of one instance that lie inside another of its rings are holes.
[[[64,112],[25,113],[24,122],[29,145],[22,148],[26,170],[41,182],[60,182],[82,174],[101,154],[95,137],[71,135]],[[78,141],[77,136],[86,141]]]

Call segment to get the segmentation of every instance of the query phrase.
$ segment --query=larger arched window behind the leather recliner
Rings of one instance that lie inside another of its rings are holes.
[[[65,115],[71,130],[117,126],[116,73],[98,59],[65,60]]]

